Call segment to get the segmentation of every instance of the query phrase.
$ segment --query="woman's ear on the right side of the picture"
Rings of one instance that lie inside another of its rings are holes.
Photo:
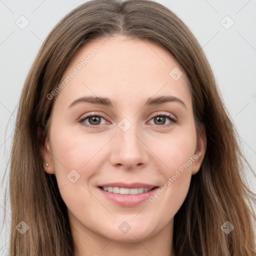
[[[200,135],[198,135],[197,137],[196,150],[194,152],[194,155],[196,155],[197,158],[193,161],[192,175],[196,174],[200,169],[202,160],[206,152],[207,139],[206,139],[205,126],[202,124],[200,128],[201,128],[201,132],[200,132]]]

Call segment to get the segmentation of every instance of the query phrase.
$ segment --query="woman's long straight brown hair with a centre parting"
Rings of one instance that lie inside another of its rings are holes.
[[[190,82],[198,134],[199,124],[205,127],[204,160],[174,216],[175,255],[255,256],[256,218],[250,203],[256,194],[244,178],[248,163],[209,63],[188,27],[151,0],[85,2],[60,20],[42,43],[22,90],[12,144],[10,256],[73,254],[66,206],[55,175],[43,170],[40,152],[54,101],[47,94],[59,84],[78,47],[114,34],[155,42],[176,59]],[[29,227],[24,234],[15,228],[20,221]],[[226,221],[234,227],[228,234],[221,230]]]

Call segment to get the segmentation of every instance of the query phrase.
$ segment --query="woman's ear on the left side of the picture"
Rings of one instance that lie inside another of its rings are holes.
[[[41,138],[42,131],[41,128],[38,127],[37,129],[37,135]],[[40,139],[41,141],[41,139]],[[55,174],[54,171],[54,165],[53,165],[53,158],[50,152],[50,145],[49,145],[49,140],[46,138],[45,141],[42,141],[40,144],[40,153],[43,159],[43,169],[45,172],[48,174]],[[47,164],[47,166],[46,166]]]

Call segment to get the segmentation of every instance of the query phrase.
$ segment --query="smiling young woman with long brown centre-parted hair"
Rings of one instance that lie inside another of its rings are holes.
[[[78,6],[43,42],[20,98],[10,255],[255,255],[235,134],[172,11]]]

